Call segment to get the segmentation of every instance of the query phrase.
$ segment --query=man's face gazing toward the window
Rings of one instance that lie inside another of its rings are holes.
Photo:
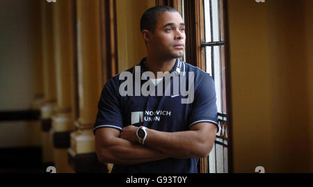
[[[164,59],[184,56],[185,26],[179,13],[165,12],[159,16],[150,37],[150,50]]]

